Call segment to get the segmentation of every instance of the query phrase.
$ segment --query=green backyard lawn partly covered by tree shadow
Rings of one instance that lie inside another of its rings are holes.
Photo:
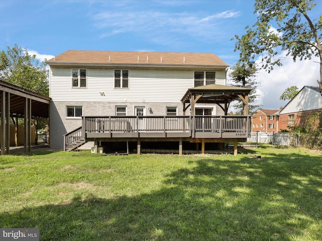
[[[40,240],[322,240],[320,152],[39,152],[0,157],[0,175],[0,227]]]

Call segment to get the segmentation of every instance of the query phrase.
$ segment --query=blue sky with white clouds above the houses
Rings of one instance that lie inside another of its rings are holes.
[[[230,39],[243,35],[245,27],[253,25],[256,17],[251,0],[2,0],[0,50],[17,44],[41,60],[69,49],[207,52],[233,66],[238,52],[233,51],[235,41]],[[310,64],[299,61],[294,64],[289,58],[283,68],[275,68],[271,74],[261,71],[258,104],[263,108],[279,108],[287,103],[279,100],[285,88],[317,85],[318,70]],[[302,66],[309,69],[296,72]],[[308,72],[317,74],[308,76]]]

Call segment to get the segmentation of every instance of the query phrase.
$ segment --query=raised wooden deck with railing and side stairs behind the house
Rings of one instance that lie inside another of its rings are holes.
[[[64,146],[87,141],[246,141],[251,116],[83,116],[82,127],[64,135]],[[138,148],[139,150],[139,148]]]

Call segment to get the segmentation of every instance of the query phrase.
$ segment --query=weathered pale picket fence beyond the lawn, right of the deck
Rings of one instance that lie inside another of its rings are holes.
[[[281,146],[297,146],[298,135],[290,133],[251,132],[247,142],[266,143]]]

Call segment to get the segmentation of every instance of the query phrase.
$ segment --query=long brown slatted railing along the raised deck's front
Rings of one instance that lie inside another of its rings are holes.
[[[250,118],[230,115],[83,116],[83,136],[248,138]]]

